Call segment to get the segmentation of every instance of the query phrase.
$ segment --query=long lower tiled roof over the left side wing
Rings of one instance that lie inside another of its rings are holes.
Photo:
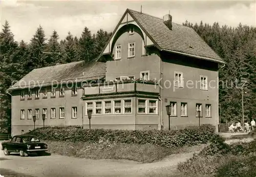
[[[20,79],[9,90],[24,89],[29,86],[47,86],[56,82],[86,81],[105,77],[106,64],[103,62],[85,63],[84,61],[38,68]]]

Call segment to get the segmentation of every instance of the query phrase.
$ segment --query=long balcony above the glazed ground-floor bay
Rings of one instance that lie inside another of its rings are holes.
[[[159,94],[159,85],[154,81],[119,81],[104,84],[84,85],[84,96],[125,93]]]

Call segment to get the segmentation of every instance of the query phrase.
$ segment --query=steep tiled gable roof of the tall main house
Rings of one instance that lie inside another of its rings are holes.
[[[222,58],[207,45],[194,29],[172,22],[172,30],[169,30],[163,23],[162,18],[131,9],[125,11],[120,22],[126,13],[129,13],[134,18],[136,23],[143,29],[159,50],[224,63]],[[114,35],[115,31],[112,37]]]

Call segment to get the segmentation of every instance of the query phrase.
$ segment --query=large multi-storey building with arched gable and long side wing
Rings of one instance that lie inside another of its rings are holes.
[[[218,70],[223,60],[172,16],[127,9],[95,62],[35,69],[8,90],[12,135],[43,125],[166,129],[218,128]]]

